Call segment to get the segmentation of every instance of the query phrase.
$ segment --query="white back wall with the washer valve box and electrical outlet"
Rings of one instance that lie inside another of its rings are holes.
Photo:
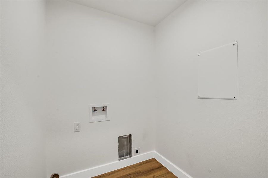
[[[47,176],[118,160],[121,135],[154,150],[153,27],[69,1],[46,8]],[[110,121],[89,123],[101,103]]]

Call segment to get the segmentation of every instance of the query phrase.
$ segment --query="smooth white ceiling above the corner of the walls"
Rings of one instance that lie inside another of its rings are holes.
[[[74,3],[156,26],[184,0],[72,0]]]

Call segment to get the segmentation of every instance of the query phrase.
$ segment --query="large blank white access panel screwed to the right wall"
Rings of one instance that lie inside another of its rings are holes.
[[[198,98],[238,99],[238,42],[203,51],[198,59]]]

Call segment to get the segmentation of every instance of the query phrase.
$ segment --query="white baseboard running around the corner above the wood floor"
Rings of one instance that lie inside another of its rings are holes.
[[[164,158],[162,155],[160,155],[156,151],[147,152],[144,154],[140,154],[137,156],[133,156],[131,158],[115,161],[108,164],[103,164],[100,166],[96,166],[93,168],[85,169],[82,171],[73,172],[71,174],[66,174],[60,177],[65,178],[89,178],[98,176],[100,174],[104,174],[110,171],[114,171],[116,169],[120,169],[126,166],[130,166],[132,164],[140,163],[142,161],[155,158],[159,163],[161,163],[163,166],[165,166],[170,172],[172,172],[175,176],[178,178],[192,178],[189,174],[184,172],[182,169],[180,169],[175,164],[171,163],[169,160]]]

